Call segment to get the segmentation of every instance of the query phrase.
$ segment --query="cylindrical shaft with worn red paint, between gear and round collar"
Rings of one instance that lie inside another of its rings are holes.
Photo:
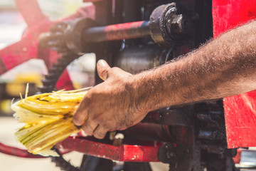
[[[135,21],[132,23],[87,28],[82,38],[85,42],[101,42],[146,36],[150,36],[149,21]]]

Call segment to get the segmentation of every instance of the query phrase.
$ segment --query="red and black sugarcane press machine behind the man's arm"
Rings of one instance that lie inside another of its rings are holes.
[[[48,66],[41,93],[68,90],[73,85],[65,68],[85,53],[136,74],[174,60],[256,16],[255,0],[84,2],[91,3],[65,19],[50,21],[36,1],[16,0],[28,28],[21,41],[0,51],[0,73],[41,58]],[[95,73],[95,83],[101,82]],[[126,171],[151,170],[149,162],[168,163],[169,170],[176,171],[238,170],[237,148],[256,145],[256,129],[250,122],[255,118],[254,105],[247,108],[245,97],[255,104],[255,93],[250,92],[151,111],[142,123],[116,131],[114,135],[124,135],[119,143],[111,138],[113,133],[103,140],[68,138],[55,149],[60,154],[82,152],[81,166],[74,167],[61,156],[53,161],[63,170],[114,170],[113,161],[124,162]],[[6,154],[39,157],[10,149],[14,148],[0,144]]]

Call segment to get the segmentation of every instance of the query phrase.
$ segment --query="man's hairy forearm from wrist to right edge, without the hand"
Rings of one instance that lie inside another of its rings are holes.
[[[137,108],[155,110],[256,89],[256,22],[224,33],[184,58],[134,76]]]

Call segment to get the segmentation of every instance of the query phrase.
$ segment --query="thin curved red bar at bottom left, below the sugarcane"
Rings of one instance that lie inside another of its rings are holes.
[[[10,147],[0,143],[0,152],[6,155],[14,155],[16,157],[24,157],[24,158],[43,158],[41,155],[33,155],[29,153],[27,150],[21,150],[16,147]]]

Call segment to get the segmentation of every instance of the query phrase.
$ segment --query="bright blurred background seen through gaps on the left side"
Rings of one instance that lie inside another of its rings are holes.
[[[43,13],[50,19],[60,19],[73,14],[80,6],[80,0],[38,0]],[[58,10],[56,10],[58,9]],[[33,14],[32,14],[33,15]],[[0,49],[21,39],[26,31],[26,23],[16,8],[14,0],[0,1]],[[89,54],[75,60],[68,66],[68,73],[75,88],[94,84],[95,55]],[[31,93],[38,91],[41,79],[48,73],[45,63],[33,59],[17,66],[0,76],[0,142],[23,148],[14,137],[14,132],[22,125],[12,117],[11,100],[18,100],[19,93],[24,95],[26,83],[30,84]],[[81,79],[82,78],[82,79]],[[78,152],[66,155],[72,158],[74,165],[80,165],[82,159]],[[60,170],[49,158],[25,159],[0,153],[0,171]]]

